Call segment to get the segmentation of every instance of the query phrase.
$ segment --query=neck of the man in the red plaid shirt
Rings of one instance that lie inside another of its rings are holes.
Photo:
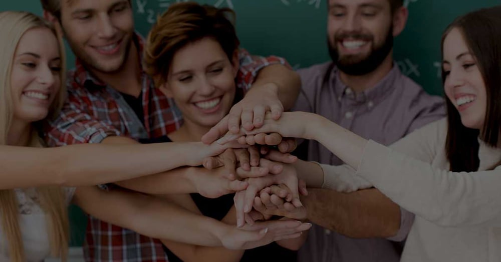
[[[113,89],[138,97],[141,93],[141,64],[139,51],[132,41],[124,64],[116,72],[104,73],[96,70],[91,72]]]

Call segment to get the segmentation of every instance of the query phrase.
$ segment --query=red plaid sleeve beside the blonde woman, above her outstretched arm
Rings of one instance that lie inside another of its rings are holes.
[[[82,98],[72,92],[68,92],[59,116],[45,128],[45,140],[51,147],[100,143],[108,136],[119,135],[121,133],[115,127],[93,117]]]

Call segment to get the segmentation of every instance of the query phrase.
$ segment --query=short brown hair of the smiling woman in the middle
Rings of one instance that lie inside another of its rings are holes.
[[[144,52],[144,70],[153,77],[155,86],[166,81],[174,54],[189,43],[205,37],[216,40],[232,61],[240,45],[236,37],[235,13],[194,2],[176,3],[169,7],[151,28]]]

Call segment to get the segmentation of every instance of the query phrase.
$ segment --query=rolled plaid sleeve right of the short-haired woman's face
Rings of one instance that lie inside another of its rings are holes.
[[[245,49],[240,49],[238,51],[238,60],[240,62],[240,68],[236,75],[236,86],[242,89],[244,93],[250,89],[250,86],[256,80],[256,76],[261,69],[275,64],[281,64],[291,68],[289,63],[281,57],[252,56]]]

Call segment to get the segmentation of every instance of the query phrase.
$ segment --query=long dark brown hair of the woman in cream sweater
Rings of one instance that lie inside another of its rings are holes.
[[[442,35],[443,42],[452,29],[458,29],[485,83],[487,97],[485,120],[479,130],[461,123],[461,117],[449,99],[447,104],[446,154],[451,171],[476,171],[479,165],[478,137],[486,144],[497,147],[501,121],[501,7],[481,9],[457,18]],[[443,60],[443,57],[442,57]],[[442,82],[445,75],[442,69]]]

